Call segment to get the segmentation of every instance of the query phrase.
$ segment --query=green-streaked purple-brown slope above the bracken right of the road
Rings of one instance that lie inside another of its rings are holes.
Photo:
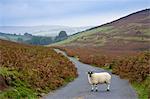
[[[73,49],[84,47],[86,50],[105,54],[126,54],[150,48],[150,9],[135,12],[113,22],[93,27],[72,35],[67,40],[56,43]],[[87,49],[88,47],[88,49]],[[88,52],[88,51],[87,51]]]

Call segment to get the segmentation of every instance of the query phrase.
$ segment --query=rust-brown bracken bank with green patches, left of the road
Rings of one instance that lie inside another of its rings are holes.
[[[76,76],[73,63],[51,48],[0,40],[0,99],[34,99]]]

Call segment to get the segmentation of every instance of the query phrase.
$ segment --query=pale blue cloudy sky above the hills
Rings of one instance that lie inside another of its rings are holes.
[[[96,26],[146,8],[149,0],[0,0],[0,26]]]

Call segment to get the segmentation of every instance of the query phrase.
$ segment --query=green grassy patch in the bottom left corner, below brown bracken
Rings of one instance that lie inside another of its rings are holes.
[[[9,86],[8,89],[0,92],[1,99],[36,98],[36,94],[29,85],[21,81],[20,77],[22,74],[15,69],[0,67],[0,75],[5,78]]]

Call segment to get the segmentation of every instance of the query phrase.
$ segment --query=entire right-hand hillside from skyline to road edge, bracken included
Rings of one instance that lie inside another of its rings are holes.
[[[139,99],[150,98],[150,9],[76,33],[50,46],[129,79]]]

